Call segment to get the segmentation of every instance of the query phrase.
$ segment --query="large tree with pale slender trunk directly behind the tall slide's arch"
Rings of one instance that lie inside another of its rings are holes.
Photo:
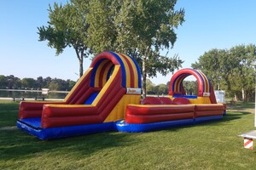
[[[88,4],[90,48],[95,53],[116,49],[136,58],[143,71],[144,97],[147,76],[154,77],[156,72],[166,75],[182,64],[177,56],[160,55],[161,49],[174,45],[175,29],[184,21],[184,10],[175,10],[176,3],[176,0],[91,0]]]

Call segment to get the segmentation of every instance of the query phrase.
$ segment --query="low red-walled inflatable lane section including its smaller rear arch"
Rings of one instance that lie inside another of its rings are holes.
[[[194,76],[198,94],[186,95],[183,79]],[[117,123],[122,132],[148,132],[222,119],[225,105],[217,104],[210,80],[201,71],[182,69],[171,79],[169,97],[148,97],[142,105],[127,105],[125,120]]]

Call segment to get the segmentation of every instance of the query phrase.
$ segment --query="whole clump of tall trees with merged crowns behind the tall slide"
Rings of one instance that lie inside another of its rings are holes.
[[[166,75],[181,66],[177,55],[160,52],[172,48],[175,29],[184,21],[184,9],[176,10],[177,0],[70,0],[62,6],[49,6],[49,26],[38,28],[39,40],[48,40],[56,54],[73,47],[83,74],[85,52],[98,54],[113,50],[137,59],[146,78],[157,72]],[[89,51],[90,49],[90,51]]]

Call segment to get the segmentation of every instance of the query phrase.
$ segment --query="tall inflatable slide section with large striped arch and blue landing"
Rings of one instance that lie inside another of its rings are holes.
[[[140,102],[140,75],[131,57],[98,54],[63,102],[20,102],[17,127],[39,139],[113,131],[126,105]]]

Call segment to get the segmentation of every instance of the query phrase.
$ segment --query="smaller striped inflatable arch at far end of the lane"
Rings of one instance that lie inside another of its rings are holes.
[[[183,88],[183,80],[186,77],[194,76],[198,82],[198,94],[197,96],[187,96]],[[170,98],[184,97],[189,98],[191,103],[195,104],[216,104],[215,94],[208,77],[201,71],[195,71],[194,69],[182,69],[177,71],[170,81],[169,86]]]

